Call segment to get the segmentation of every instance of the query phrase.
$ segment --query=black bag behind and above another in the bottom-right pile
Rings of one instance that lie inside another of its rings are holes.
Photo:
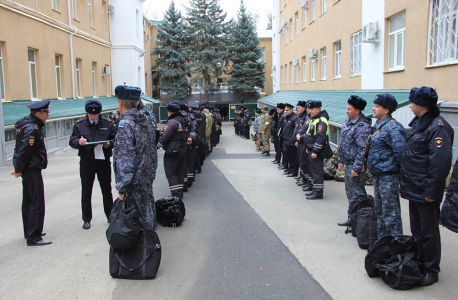
[[[379,270],[374,267],[374,261],[376,259],[387,259],[393,255],[405,252],[414,253],[414,257],[417,257],[417,242],[412,236],[392,234],[381,237],[367,249],[366,258],[364,260],[364,268],[366,269],[367,275],[369,275],[369,277],[380,276]]]

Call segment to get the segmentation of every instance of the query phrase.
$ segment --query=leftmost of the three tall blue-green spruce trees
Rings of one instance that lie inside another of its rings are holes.
[[[175,9],[175,3],[172,1],[157,29],[158,47],[154,48],[151,54],[159,57],[151,69],[157,68],[153,78],[160,79],[158,88],[175,100],[182,100],[188,92],[188,65],[183,30],[181,12]]]

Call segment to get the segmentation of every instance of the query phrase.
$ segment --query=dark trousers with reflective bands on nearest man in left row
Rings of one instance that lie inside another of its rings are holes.
[[[172,196],[183,198],[184,174],[186,173],[186,147],[174,155],[164,154],[164,170]]]

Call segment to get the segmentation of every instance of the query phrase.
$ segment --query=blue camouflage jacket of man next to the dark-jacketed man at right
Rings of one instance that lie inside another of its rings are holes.
[[[393,120],[392,122],[389,122]],[[372,175],[399,174],[402,155],[406,144],[404,127],[391,115],[377,121],[372,128],[372,135],[383,125],[382,129],[371,140],[367,168]]]

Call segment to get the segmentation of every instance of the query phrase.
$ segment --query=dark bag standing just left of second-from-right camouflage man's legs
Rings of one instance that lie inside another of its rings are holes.
[[[358,246],[368,249],[377,241],[377,216],[371,207],[361,208],[358,212],[356,239]],[[353,229],[353,232],[355,229]]]

